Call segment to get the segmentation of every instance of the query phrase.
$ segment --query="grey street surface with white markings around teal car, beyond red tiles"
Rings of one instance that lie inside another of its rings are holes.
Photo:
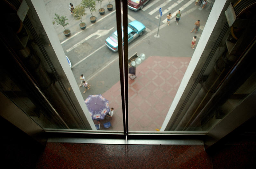
[[[54,13],[67,16],[69,25],[66,29],[71,30],[71,36],[66,38],[63,34],[63,27],[54,25],[62,44],[65,54],[72,63],[72,72],[80,83],[79,76],[84,74],[91,85],[91,89],[83,94],[84,99],[89,94],[102,94],[120,80],[118,53],[108,49],[104,42],[116,30],[115,6],[113,11],[107,11],[108,1],[103,1],[105,15],[99,15],[98,11],[93,12],[97,17],[96,23],[89,21],[91,16],[89,10],[83,21],[87,24],[85,30],[80,30],[80,21],[74,20],[68,9],[69,1],[44,0],[50,18],[54,20]],[[73,0],[76,7],[80,1]],[[114,5],[114,1],[112,2]],[[159,26],[159,8],[162,8],[163,15],[160,21],[159,38],[156,37]],[[99,9],[99,4],[96,9]],[[63,10],[66,9],[66,10]],[[176,11],[181,10],[179,24],[175,23]],[[172,13],[170,25],[166,24],[166,16]],[[131,42],[128,46],[128,55],[144,53],[149,56],[185,56],[191,57],[194,50],[190,48],[193,36],[197,36],[197,42],[206,24],[210,13],[210,2],[201,10],[195,6],[194,0],[151,0],[142,10],[132,11],[128,9],[128,22],[138,20],[146,26],[146,32]],[[201,21],[200,31],[190,33],[197,20]],[[81,92],[83,88],[80,89]]]

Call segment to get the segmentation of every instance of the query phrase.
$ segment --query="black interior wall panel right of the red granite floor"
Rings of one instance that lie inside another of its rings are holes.
[[[252,169],[256,166],[256,117],[251,118],[206,152],[213,169]]]

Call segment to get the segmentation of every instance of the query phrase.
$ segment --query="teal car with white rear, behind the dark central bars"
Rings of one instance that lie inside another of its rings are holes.
[[[146,27],[139,21],[132,21],[128,23],[128,43],[132,42],[135,38],[142,36]],[[123,30],[122,30],[123,38]],[[110,37],[105,40],[105,45],[112,51],[118,51],[118,42],[117,42],[117,31],[112,33]]]

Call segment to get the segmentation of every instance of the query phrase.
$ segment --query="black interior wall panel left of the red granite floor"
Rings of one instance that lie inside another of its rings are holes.
[[[36,168],[44,146],[0,116],[1,166]]]

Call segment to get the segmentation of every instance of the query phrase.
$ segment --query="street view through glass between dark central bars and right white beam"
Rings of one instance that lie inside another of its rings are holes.
[[[179,0],[141,1],[137,6],[128,2],[128,7],[128,23],[137,20],[146,27],[143,30],[140,23],[133,23],[138,32],[133,41],[128,40],[129,131],[159,131],[193,55],[192,48],[197,47],[191,46],[191,41],[194,36],[199,41],[210,3],[207,10],[199,10],[195,1]],[[193,28],[196,30],[190,33]]]

